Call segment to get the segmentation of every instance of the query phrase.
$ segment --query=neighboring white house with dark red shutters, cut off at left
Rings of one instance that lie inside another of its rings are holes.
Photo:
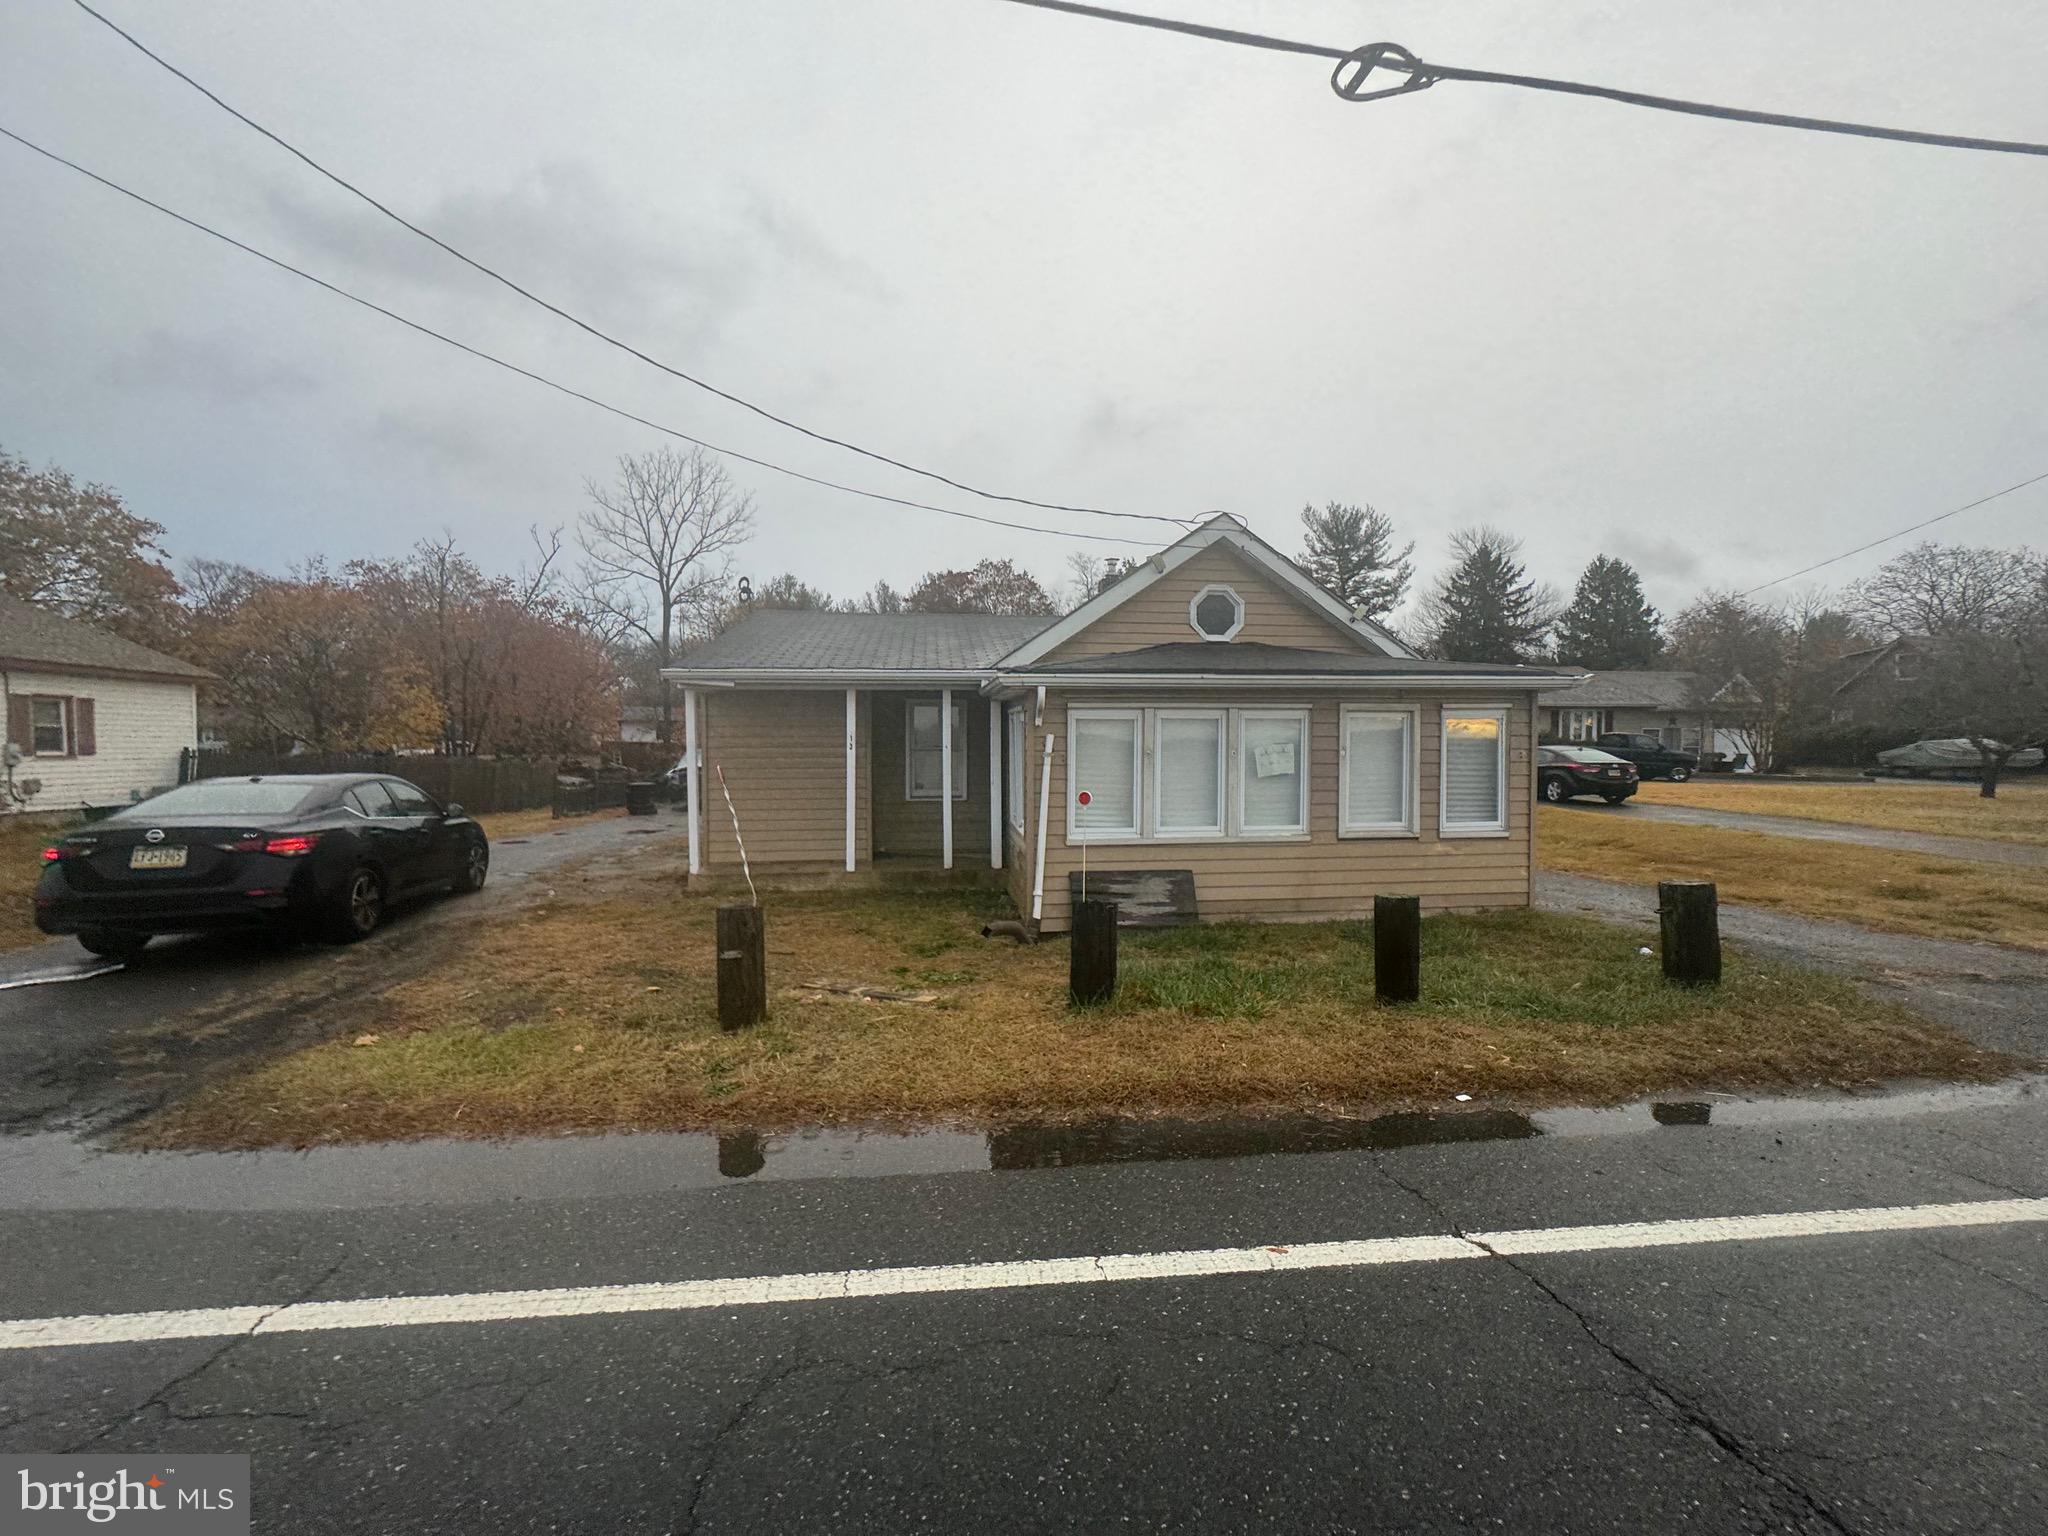
[[[127,805],[178,782],[207,672],[0,596],[8,758],[0,815]],[[29,784],[37,784],[29,793]]]

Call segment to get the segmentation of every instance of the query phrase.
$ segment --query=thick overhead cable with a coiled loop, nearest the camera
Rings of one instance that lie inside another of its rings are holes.
[[[84,4],[84,0],[74,0],[74,4]],[[1147,16],[1135,10],[1079,4],[1079,0],[1008,0],[1008,4],[1032,6],[1034,10],[1059,10],[1071,16],[1090,16],[1094,20],[1114,20],[1126,27],[1149,27],[1161,33],[1202,37],[1212,43],[1235,43],[1237,47],[1257,47],[1272,53],[1305,53],[1317,59],[1335,59],[1337,68],[1329,76],[1329,86],[1346,100],[1405,96],[1415,90],[1427,90],[1442,80],[1462,80],[1483,86],[1552,90],[1565,96],[1595,96],[1599,100],[1622,102],[1624,106],[1647,106],[1659,113],[1686,113],[1690,117],[1720,117],[1731,123],[1761,123],[1763,127],[1806,129],[1810,133],[1849,133],[1864,139],[1931,143],[1944,150],[1987,150],[1993,154],[2048,156],[2048,143],[2030,143],[2025,139],[1978,139],[1968,133],[1927,133],[1921,129],[1880,127],[1876,123],[1841,123],[1829,117],[1759,113],[1747,106],[1718,106],[1704,100],[1683,100],[1681,96],[1653,96],[1642,90],[1622,90],[1618,86],[1589,86],[1583,80],[1552,80],[1538,74],[1503,74],[1499,70],[1468,70],[1456,63],[1430,63],[1415,57],[1399,43],[1366,43],[1364,47],[1303,43],[1292,37],[1241,33],[1231,27],[1206,27],[1202,23],[1178,20],[1174,16]],[[1384,84],[1372,82],[1372,76],[1378,70],[1386,72]]]

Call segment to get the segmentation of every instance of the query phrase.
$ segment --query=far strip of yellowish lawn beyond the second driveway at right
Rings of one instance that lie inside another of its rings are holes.
[[[2048,782],[2034,778],[1999,784],[1995,801],[1978,795],[1974,784],[1772,784],[1741,778],[1649,780],[1636,799],[2048,848]]]

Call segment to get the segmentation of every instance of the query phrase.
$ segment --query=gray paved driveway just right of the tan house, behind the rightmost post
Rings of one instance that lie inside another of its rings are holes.
[[[1536,905],[1610,922],[1657,922],[1655,889],[1559,870],[1536,870]],[[2048,1059],[2048,956],[1729,903],[1720,907],[1720,932],[1776,961],[1847,973],[1991,1051]]]

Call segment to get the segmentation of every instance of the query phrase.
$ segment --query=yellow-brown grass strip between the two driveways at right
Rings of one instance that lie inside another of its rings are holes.
[[[1690,784],[1686,786],[1690,788]],[[1978,938],[2048,950],[2048,877],[1890,848],[1763,831],[1630,821],[1540,807],[1536,860],[1612,881],[1714,881],[1722,901],[1839,918],[1927,938]]]

